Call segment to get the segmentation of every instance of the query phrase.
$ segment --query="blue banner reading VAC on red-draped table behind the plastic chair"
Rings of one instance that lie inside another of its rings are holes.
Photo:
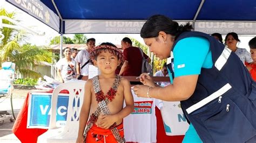
[[[52,93],[31,92],[29,95],[27,128],[48,128]],[[64,126],[68,112],[69,94],[59,94],[56,125]]]

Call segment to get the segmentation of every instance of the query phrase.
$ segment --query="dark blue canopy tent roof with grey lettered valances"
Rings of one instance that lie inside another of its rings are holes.
[[[205,33],[256,34],[255,0],[5,0],[62,34],[139,33],[161,14]]]

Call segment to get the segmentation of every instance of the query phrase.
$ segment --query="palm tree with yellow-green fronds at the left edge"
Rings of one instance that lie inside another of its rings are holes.
[[[15,14],[15,12],[7,12],[5,9],[0,9],[0,15],[2,16],[15,19]],[[3,23],[11,24],[6,20],[3,20]],[[45,47],[32,46],[31,44],[21,46],[20,44],[25,42],[24,39],[26,39],[24,31],[3,27],[2,32],[4,39],[2,40],[2,45],[0,45],[1,65],[2,62],[11,61],[16,63],[16,69],[24,77],[41,77],[41,74],[32,69],[35,67],[35,63],[40,63],[41,61],[51,62],[51,53]]]

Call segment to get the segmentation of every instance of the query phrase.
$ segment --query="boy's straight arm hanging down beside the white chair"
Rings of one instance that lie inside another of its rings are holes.
[[[91,108],[91,87],[92,87],[92,80],[87,80],[84,85],[84,101],[82,105],[82,109],[80,111],[79,116],[79,130],[77,135],[77,142],[84,142],[84,129],[89,117],[90,108]]]

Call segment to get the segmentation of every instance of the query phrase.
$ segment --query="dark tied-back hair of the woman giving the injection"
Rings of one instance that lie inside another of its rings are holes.
[[[140,37],[142,38],[153,38],[158,37],[160,31],[164,31],[166,34],[171,34],[177,37],[185,32],[193,29],[190,23],[185,25],[179,25],[172,19],[163,15],[154,15],[147,19],[140,31]]]

